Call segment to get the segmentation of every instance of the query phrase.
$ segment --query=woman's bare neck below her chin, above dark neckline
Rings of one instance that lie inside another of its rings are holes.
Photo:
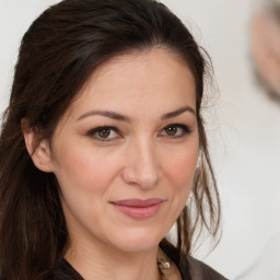
[[[104,244],[72,244],[65,258],[85,280],[162,279],[158,247],[131,253]]]

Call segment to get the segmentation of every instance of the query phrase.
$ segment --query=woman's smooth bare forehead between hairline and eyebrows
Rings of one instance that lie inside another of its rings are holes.
[[[116,56],[102,63],[90,77],[70,106],[71,112],[94,108],[159,109],[196,102],[195,79],[187,63],[172,50]],[[194,108],[195,109],[195,108]],[[133,110],[131,110],[131,114]]]

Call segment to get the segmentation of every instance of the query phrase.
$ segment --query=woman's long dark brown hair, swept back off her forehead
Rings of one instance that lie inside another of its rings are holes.
[[[207,62],[194,37],[165,5],[154,0],[65,0],[47,9],[24,35],[10,104],[0,137],[0,277],[33,280],[50,270],[68,246],[68,231],[54,174],[35,167],[25,148],[22,119],[50,139],[92,72],[107,59],[163,47],[178,54],[196,80],[200,139],[192,203],[177,221],[174,259],[189,254],[201,225],[215,234],[220,203],[201,117]],[[190,214],[191,212],[191,214]]]

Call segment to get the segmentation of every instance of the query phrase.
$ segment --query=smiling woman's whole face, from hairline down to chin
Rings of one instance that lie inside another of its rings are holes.
[[[103,63],[50,144],[71,244],[158,246],[186,203],[198,152],[195,80],[177,55]]]

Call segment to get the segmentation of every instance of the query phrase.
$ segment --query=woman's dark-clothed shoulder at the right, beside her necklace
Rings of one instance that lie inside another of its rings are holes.
[[[187,268],[191,280],[226,280],[211,267],[190,256],[185,258],[185,266],[183,265],[183,267]]]

